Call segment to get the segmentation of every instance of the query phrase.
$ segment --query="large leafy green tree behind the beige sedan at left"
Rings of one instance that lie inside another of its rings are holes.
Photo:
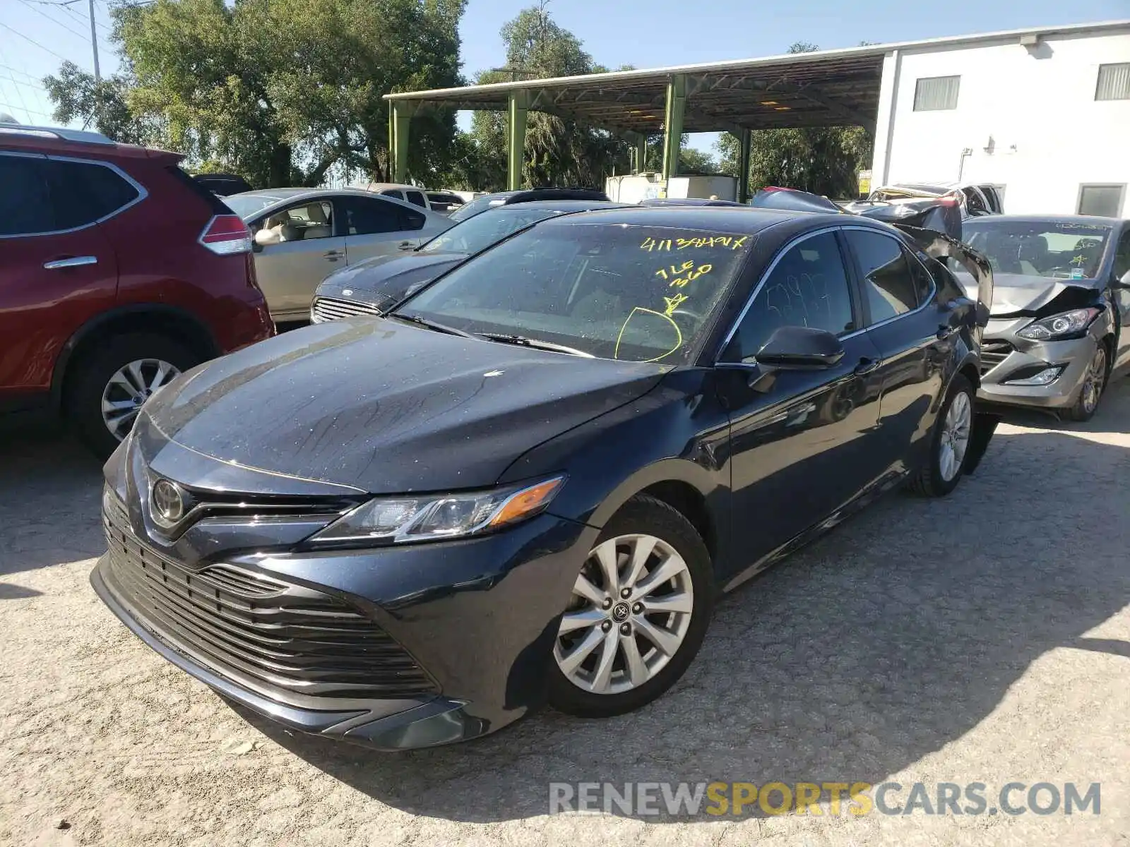
[[[382,97],[462,84],[464,5],[118,0],[113,37],[127,73],[95,97],[64,68],[49,91],[67,120],[107,121],[118,138],[138,123],[159,126],[190,161],[221,163],[253,184],[316,185],[334,167],[383,180],[391,168]],[[450,110],[416,117],[409,173],[426,178],[446,167],[454,133]]]

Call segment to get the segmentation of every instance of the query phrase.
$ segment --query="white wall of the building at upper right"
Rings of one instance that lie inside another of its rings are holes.
[[[872,185],[994,183],[1009,213],[1074,213],[1080,184],[1130,185],[1130,99],[1095,101],[1098,66],[1130,62],[1130,26],[1018,42],[888,54]],[[954,75],[957,108],[914,111],[918,79]],[[964,163],[963,148],[973,151]]]

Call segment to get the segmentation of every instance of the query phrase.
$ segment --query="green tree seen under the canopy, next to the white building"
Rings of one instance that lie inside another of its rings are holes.
[[[809,53],[798,42],[790,53]],[[738,173],[738,139],[727,133],[716,145],[725,173]],[[861,126],[755,130],[749,149],[749,185],[783,185],[833,198],[854,198],[859,171],[871,159],[871,139]]]

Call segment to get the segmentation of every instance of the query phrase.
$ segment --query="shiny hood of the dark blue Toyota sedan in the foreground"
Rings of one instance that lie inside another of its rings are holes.
[[[150,463],[172,440],[227,468],[372,494],[480,488],[668,369],[345,318],[185,374],[146,405],[138,440]]]

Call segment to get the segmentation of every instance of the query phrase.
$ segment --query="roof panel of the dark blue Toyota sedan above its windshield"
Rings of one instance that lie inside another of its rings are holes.
[[[618,209],[570,215],[567,219],[550,219],[560,224],[623,224],[660,226],[672,229],[718,230],[721,233],[757,233],[799,217],[814,225],[843,224],[844,216],[835,212],[750,209],[727,206],[625,206]],[[546,224],[549,221],[542,221]],[[852,220],[855,222],[855,219]]]

